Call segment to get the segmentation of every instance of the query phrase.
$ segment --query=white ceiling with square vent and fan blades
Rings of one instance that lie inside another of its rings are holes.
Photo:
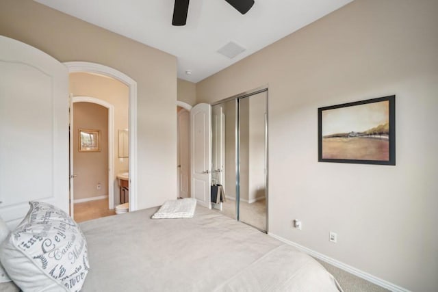
[[[172,26],[174,0],[35,1],[175,55],[178,77],[196,83],[352,0],[255,0],[245,15],[224,0],[190,0],[184,27]],[[230,41],[246,51],[217,53]]]

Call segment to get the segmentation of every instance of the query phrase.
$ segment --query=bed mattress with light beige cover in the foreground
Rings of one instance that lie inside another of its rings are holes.
[[[342,291],[311,256],[216,211],[155,211],[80,224],[90,262],[81,291]]]

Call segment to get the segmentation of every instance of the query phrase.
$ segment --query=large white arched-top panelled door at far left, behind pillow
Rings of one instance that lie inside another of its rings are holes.
[[[0,36],[0,215],[12,228],[29,200],[68,212],[68,70]]]

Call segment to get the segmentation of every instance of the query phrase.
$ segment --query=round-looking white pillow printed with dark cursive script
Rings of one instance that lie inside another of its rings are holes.
[[[79,291],[89,265],[87,243],[67,213],[29,202],[25,219],[0,249],[1,263],[23,291]]]

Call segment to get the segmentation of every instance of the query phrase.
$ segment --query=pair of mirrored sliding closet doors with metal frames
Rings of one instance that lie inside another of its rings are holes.
[[[211,107],[212,184],[222,185],[224,215],[267,231],[268,91]]]

